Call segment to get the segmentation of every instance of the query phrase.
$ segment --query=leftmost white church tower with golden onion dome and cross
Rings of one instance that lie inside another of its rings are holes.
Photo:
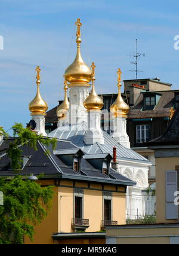
[[[29,110],[30,115],[32,116],[32,120],[30,121],[30,126],[34,132],[38,135],[47,136],[45,132],[45,115],[48,109],[48,105],[45,100],[42,99],[41,93],[39,90],[39,86],[41,84],[41,77],[40,72],[41,69],[39,66],[35,69],[37,72],[36,75],[36,85],[37,85],[37,92],[35,98],[29,103]]]

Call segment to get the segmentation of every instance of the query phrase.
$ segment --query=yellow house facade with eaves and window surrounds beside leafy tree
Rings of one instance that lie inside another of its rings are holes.
[[[42,185],[51,185],[49,181],[39,181]],[[53,197],[53,206],[48,214],[48,217],[38,226],[35,227],[35,236],[33,242],[27,237],[24,238],[24,243],[105,243],[103,238],[91,239],[66,239],[56,240],[53,239],[55,233],[74,233],[78,232],[78,223],[75,225],[73,219],[75,218],[75,197],[81,197],[83,200],[83,219],[88,220],[86,224],[82,224],[82,229],[85,232],[98,232],[104,227],[104,200],[109,197],[111,200],[111,219],[118,224],[125,224],[125,186],[120,185],[106,185],[89,182],[72,182],[72,181],[58,181]],[[76,228],[77,227],[77,228]],[[81,228],[79,228],[81,230]]]

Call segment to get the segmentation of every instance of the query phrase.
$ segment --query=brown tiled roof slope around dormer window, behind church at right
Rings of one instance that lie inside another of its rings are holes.
[[[155,93],[155,92],[153,92]],[[174,105],[174,92],[161,92],[161,98],[153,110],[141,111],[143,108],[143,93],[137,99],[135,106],[130,109],[128,118],[154,118],[154,117],[169,117],[169,110]]]

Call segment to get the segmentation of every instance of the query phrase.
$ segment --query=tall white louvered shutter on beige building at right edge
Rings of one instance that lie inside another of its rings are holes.
[[[166,171],[166,220],[178,219],[178,206],[174,205],[174,193],[178,190],[177,171]]]

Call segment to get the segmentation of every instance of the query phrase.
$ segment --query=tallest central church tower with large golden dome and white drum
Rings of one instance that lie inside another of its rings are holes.
[[[82,121],[87,122],[87,109],[84,107],[84,100],[88,97],[91,81],[91,68],[84,62],[81,56],[81,26],[80,19],[75,23],[77,26],[76,44],[77,53],[73,63],[64,72],[64,78],[69,82],[70,88],[70,106],[69,118],[70,124],[78,124]]]

